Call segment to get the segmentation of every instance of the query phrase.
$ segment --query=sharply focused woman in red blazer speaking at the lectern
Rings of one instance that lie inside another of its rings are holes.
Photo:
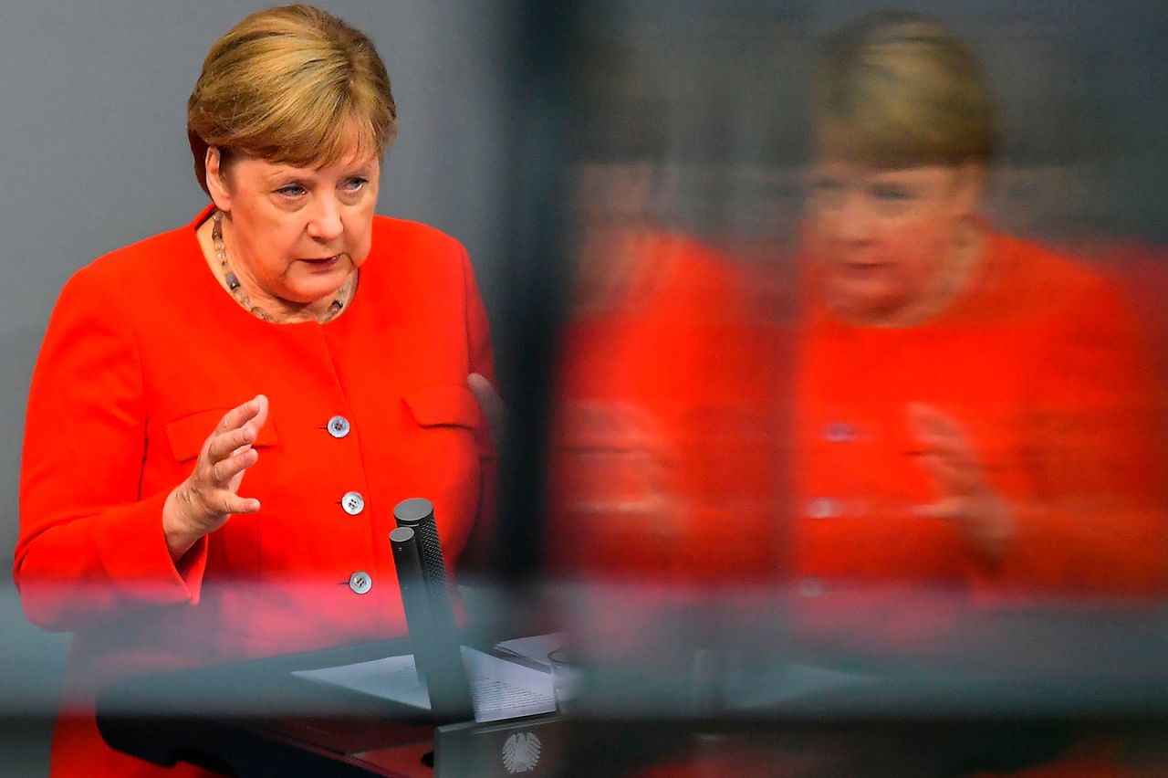
[[[457,241],[374,215],[395,123],[362,33],[246,18],[188,105],[213,204],[62,291],[15,555],[74,632],[53,774],[155,774],[95,727],[130,672],[402,634],[394,506],[432,500],[450,558],[487,509],[487,318]]]

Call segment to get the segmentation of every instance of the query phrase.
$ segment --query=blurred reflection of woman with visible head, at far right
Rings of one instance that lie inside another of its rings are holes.
[[[980,216],[995,110],[968,47],[881,14],[813,86],[794,407],[800,590],[1149,591],[1147,367],[1118,293]]]

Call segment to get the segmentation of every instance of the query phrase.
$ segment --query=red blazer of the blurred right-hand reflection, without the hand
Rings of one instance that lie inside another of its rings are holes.
[[[799,575],[827,586],[1162,591],[1152,370],[1118,289],[993,235],[978,276],[929,322],[848,327],[812,303],[799,341]],[[912,515],[937,495],[913,454],[909,402],[961,423],[1014,508],[999,564],[953,522]]]

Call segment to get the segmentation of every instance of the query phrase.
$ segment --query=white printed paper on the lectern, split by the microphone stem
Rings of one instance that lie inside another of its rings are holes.
[[[463,646],[463,665],[471,685],[478,722],[551,713],[556,709],[550,673],[509,662]],[[387,657],[356,665],[296,671],[299,678],[430,709],[430,695],[418,681],[413,657]]]

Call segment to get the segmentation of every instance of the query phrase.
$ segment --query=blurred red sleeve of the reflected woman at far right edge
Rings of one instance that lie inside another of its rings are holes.
[[[1155,593],[1168,523],[1149,362],[1134,317],[1103,284],[1066,306],[1036,354],[1027,425],[1035,499],[993,578],[1007,588]]]

